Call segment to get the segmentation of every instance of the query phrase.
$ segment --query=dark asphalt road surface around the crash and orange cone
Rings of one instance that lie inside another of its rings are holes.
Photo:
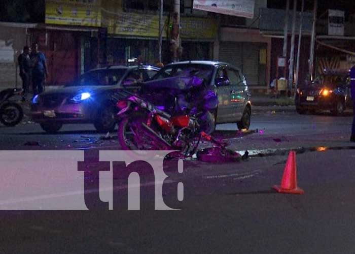
[[[180,210],[152,208],[154,183],[147,173],[139,211],[127,210],[124,203],[113,211],[98,206],[89,211],[1,211],[0,253],[355,253],[351,120],[349,115],[271,110],[253,114],[250,133],[219,125],[216,136],[253,156],[228,164],[185,161],[183,174],[171,172],[163,192],[164,202]],[[100,139],[91,125],[67,125],[57,135],[44,134],[37,124],[0,127],[2,150],[83,149],[88,157],[97,150],[119,149],[115,133],[111,136]],[[271,190],[280,183],[290,149],[297,151],[304,195]],[[120,196],[125,181],[114,179],[113,196]],[[87,180],[97,183],[94,174]],[[176,182],[184,183],[182,202],[176,199]],[[91,189],[92,201],[97,192]]]

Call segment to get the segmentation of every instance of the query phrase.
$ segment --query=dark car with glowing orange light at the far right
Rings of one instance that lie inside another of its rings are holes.
[[[295,104],[299,114],[307,110],[342,114],[351,105],[349,73],[326,72],[311,84],[301,86],[297,89]]]

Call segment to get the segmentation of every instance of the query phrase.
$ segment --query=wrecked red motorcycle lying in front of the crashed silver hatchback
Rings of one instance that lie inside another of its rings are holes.
[[[227,149],[226,142],[201,130],[198,120],[203,111],[171,115],[136,94],[117,102],[117,107],[118,140],[124,150],[176,150],[174,157],[196,154],[198,160],[215,163],[240,160],[240,154]],[[214,147],[198,151],[202,140]]]

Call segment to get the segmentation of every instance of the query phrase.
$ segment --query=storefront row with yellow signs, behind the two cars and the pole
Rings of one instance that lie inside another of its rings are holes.
[[[163,17],[163,62],[171,61],[169,17]],[[181,59],[211,59],[217,21],[181,17]],[[127,12],[120,1],[46,0],[46,24],[31,41],[45,51],[48,84],[62,85],[93,68],[136,62],[153,65],[158,57],[157,15]]]

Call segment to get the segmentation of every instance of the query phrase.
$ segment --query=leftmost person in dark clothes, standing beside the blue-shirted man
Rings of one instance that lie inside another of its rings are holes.
[[[31,60],[29,58],[30,49],[28,46],[23,47],[23,52],[18,56],[17,61],[20,68],[20,77],[22,79],[22,101],[26,101],[30,77],[31,77]]]

